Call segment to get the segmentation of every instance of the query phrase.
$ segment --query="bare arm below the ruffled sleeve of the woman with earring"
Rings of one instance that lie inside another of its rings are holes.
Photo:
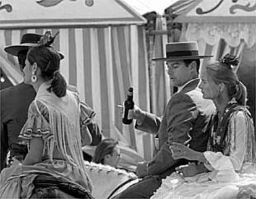
[[[23,164],[32,165],[39,163],[43,157],[43,144],[43,139],[41,137],[33,137],[30,140],[30,148]]]

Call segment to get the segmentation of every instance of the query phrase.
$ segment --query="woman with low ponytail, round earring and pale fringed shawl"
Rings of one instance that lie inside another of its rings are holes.
[[[43,198],[62,195],[56,187],[60,193],[82,192],[83,198],[92,198],[82,155],[82,142],[92,141],[87,129],[90,118],[79,95],[67,90],[59,71],[61,55],[51,47],[53,39],[46,32],[40,45],[28,51],[24,81],[34,87],[36,97],[19,136],[28,144],[28,154],[22,164],[1,173],[0,198],[30,198],[33,193],[41,197],[42,184],[53,186]]]

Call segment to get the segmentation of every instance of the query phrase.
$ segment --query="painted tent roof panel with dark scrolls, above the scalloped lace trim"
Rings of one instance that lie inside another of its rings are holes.
[[[224,1],[224,0],[190,0],[192,7],[176,18],[176,22],[220,22],[220,23],[255,23],[256,21],[256,1]],[[182,0],[177,2],[185,8],[187,2]]]

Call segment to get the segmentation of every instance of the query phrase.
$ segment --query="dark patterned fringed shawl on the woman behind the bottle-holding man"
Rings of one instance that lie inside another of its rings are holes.
[[[245,118],[246,129],[244,134],[246,137],[246,150],[244,162],[256,162],[256,139],[254,132],[254,123],[250,116],[249,110],[244,106],[237,104],[236,101],[231,100],[224,111],[224,115],[218,123],[218,117],[215,115],[211,120],[211,136],[208,142],[207,150],[212,152],[221,152],[223,155],[229,155],[231,151],[231,140],[234,142],[236,148],[236,115],[242,112]],[[233,125],[232,125],[233,124]]]

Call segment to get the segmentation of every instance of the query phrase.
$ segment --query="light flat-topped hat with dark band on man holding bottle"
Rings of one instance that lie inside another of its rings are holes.
[[[153,60],[205,59],[208,57],[213,57],[213,55],[199,55],[197,42],[186,41],[166,44],[166,57]]]

